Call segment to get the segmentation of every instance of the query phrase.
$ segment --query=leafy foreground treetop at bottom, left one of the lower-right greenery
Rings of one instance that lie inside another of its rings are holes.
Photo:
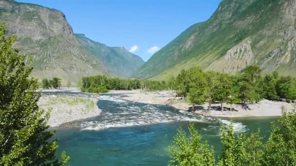
[[[201,135],[195,130],[194,125],[189,127],[190,139],[182,128],[177,131],[173,145],[169,147],[171,157],[170,165],[179,166],[214,166],[214,149],[202,141]]]

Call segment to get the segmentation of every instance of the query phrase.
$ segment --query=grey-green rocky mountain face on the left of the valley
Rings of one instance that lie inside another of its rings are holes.
[[[6,21],[8,35],[18,35],[16,48],[34,56],[33,76],[37,78],[59,77],[63,84],[68,81],[75,84],[83,76],[117,76],[116,72],[111,72],[109,64],[105,65],[98,58],[99,55],[94,55],[81,44],[65,15],[58,10],[0,0],[0,21]],[[120,52],[113,57],[118,54]]]

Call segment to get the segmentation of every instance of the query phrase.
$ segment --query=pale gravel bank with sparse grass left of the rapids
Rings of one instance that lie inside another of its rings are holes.
[[[38,105],[42,109],[51,110],[48,125],[58,127],[66,122],[100,115],[97,102],[96,98],[42,95]]]

